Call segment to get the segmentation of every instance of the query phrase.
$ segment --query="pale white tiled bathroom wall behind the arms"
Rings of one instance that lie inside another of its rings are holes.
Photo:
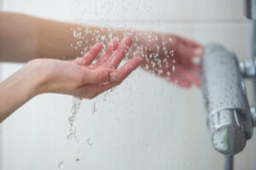
[[[3,0],[3,10],[177,33],[202,44],[222,43],[247,59],[251,23],[242,8],[241,0]],[[3,63],[2,80],[21,66]],[[58,169],[61,162],[63,169],[89,170],[223,167],[223,156],[212,149],[197,88],[184,90],[138,70],[109,95],[83,100],[78,116],[82,144],[67,140],[71,105],[71,96],[43,94],[9,116],[1,124],[0,169]],[[255,169],[255,156],[254,136],[236,156],[236,169]]]

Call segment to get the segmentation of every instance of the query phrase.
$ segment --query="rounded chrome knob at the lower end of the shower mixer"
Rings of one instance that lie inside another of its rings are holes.
[[[232,109],[218,111],[209,117],[212,145],[216,150],[225,155],[235,155],[244,149],[247,142],[244,118],[243,114]]]

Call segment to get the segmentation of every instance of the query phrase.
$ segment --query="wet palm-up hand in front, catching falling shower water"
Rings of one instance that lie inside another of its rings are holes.
[[[141,65],[142,59],[133,58],[117,69],[130,46],[130,37],[126,37],[122,42],[113,40],[95,64],[92,62],[102,49],[101,43],[96,43],[83,58],[75,61],[35,59],[26,67],[37,68],[38,77],[44,79],[38,85],[37,94],[70,94],[92,99],[118,85]]]

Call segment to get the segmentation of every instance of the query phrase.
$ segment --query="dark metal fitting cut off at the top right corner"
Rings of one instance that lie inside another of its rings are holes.
[[[256,0],[244,0],[244,14],[247,19],[256,20]]]

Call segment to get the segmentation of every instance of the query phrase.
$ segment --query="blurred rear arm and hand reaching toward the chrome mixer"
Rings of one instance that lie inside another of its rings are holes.
[[[96,42],[107,47],[111,39],[128,35],[134,44],[128,56],[139,53],[143,68],[184,88],[200,87],[200,70],[193,58],[201,56],[203,47],[177,35],[81,26],[5,12],[0,12],[0,23],[0,61],[75,59]]]

